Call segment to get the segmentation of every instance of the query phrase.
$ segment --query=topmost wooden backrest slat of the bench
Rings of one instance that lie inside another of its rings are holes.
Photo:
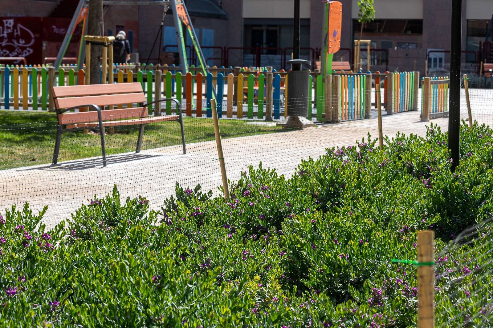
[[[55,98],[143,92],[139,82],[53,87],[52,91]]]

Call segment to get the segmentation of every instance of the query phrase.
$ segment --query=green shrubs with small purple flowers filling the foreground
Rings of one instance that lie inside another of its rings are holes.
[[[416,259],[418,230],[434,229],[441,252],[492,216],[492,133],[462,127],[455,173],[447,134],[431,126],[425,138],[387,138],[383,151],[370,136],[327,149],[289,179],[250,167],[228,200],[176,184],[157,212],[115,186],[48,231],[46,208],[13,206],[0,217],[0,325],[415,327],[416,268],[390,260]],[[477,305],[493,288],[486,241],[447,256],[437,322],[492,320]],[[450,281],[463,281],[452,300]]]

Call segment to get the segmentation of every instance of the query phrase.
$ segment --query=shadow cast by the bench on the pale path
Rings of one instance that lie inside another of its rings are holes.
[[[106,156],[106,164],[121,164],[130,163],[140,160],[146,160],[154,157],[166,157],[166,155],[157,154],[125,154],[125,155],[110,155]],[[90,168],[101,168],[103,166],[102,158],[90,158],[83,160],[73,160],[70,162],[64,162],[63,164],[51,165],[41,167],[32,167],[23,169],[23,171],[31,170],[85,170]]]

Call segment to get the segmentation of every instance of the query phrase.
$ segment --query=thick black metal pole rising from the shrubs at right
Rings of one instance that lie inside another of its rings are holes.
[[[452,171],[459,164],[460,138],[460,47],[462,42],[462,0],[452,0],[452,33],[450,42],[449,149]]]

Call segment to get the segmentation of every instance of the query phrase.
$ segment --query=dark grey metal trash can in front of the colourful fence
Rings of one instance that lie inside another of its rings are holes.
[[[309,61],[294,59],[287,64],[306,64]],[[308,88],[310,83],[310,72],[308,70],[293,70],[287,73],[287,115],[288,116],[308,116]]]

